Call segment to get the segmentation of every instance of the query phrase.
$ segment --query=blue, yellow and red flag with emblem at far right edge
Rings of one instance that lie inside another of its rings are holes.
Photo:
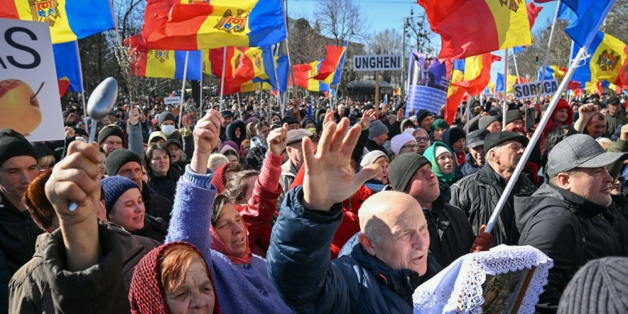
[[[578,53],[574,47],[572,58]],[[591,58],[582,67],[576,68],[571,80],[577,82],[601,82],[607,80],[620,87],[628,87],[625,66],[628,46],[621,40],[599,31],[588,46]]]

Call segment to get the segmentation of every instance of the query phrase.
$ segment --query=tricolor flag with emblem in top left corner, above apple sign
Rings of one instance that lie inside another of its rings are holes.
[[[52,43],[67,43],[114,27],[107,0],[3,0],[0,18],[48,23]]]

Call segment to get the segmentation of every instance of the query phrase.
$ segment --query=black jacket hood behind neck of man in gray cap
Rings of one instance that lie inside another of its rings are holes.
[[[571,208],[585,217],[593,217],[604,213],[607,207],[597,205],[575,193],[555,187],[550,183],[543,183],[532,195],[516,195],[514,210],[517,229],[523,227],[541,208],[564,207]]]

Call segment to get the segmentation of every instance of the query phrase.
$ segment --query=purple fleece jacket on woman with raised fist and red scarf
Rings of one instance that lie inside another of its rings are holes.
[[[209,227],[216,188],[214,173],[199,175],[185,166],[176,186],[175,204],[166,243],[185,241],[197,247],[210,266],[222,313],[294,313],[268,278],[266,259],[253,256],[251,264],[235,265],[211,249]]]

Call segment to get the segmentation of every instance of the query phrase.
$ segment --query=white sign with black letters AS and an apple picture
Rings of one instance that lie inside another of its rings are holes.
[[[28,141],[65,138],[48,23],[0,18],[0,127]]]

